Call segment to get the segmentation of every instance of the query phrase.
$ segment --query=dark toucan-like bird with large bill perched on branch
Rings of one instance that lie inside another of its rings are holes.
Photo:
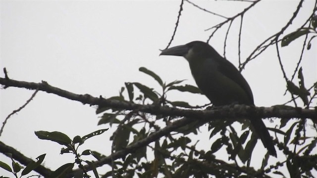
[[[183,56],[189,63],[198,88],[209,98],[213,106],[255,106],[252,90],[245,78],[230,61],[208,43],[193,41],[163,49],[159,55]],[[250,119],[250,122],[268,153],[276,157],[273,140],[262,119]]]

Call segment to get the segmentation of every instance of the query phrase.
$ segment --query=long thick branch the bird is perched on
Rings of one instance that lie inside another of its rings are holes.
[[[317,109],[302,109],[302,108],[292,108],[292,107],[252,107],[245,105],[234,105],[234,106],[223,106],[214,107],[212,110],[188,110],[188,109],[178,109],[166,106],[157,105],[141,105],[134,104],[131,102],[123,102],[113,99],[105,99],[102,97],[93,97],[89,94],[76,94],[63,89],[59,89],[50,86],[47,82],[42,81],[42,83],[32,83],[24,81],[16,81],[11,79],[0,78],[0,84],[4,85],[4,88],[8,87],[18,87],[25,89],[39,89],[48,93],[53,93],[58,96],[65,97],[67,99],[80,101],[83,104],[99,105],[101,107],[112,107],[125,110],[138,110],[141,112],[146,112],[150,114],[162,114],[166,116],[185,116],[195,119],[216,119],[216,118],[310,118],[316,120]]]

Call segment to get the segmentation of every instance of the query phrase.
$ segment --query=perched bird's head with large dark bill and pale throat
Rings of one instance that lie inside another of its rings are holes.
[[[178,45],[161,51],[159,55],[183,56],[188,62],[194,59],[205,59],[218,54],[209,44],[201,41],[190,42],[186,45]]]

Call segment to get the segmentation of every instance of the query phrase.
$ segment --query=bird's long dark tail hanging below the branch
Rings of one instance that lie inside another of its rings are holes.
[[[258,118],[251,119],[251,124],[254,128],[254,132],[258,134],[263,142],[264,147],[267,149],[268,153],[276,157],[276,150],[274,148],[274,143],[271,136],[268,133],[263,121]]]

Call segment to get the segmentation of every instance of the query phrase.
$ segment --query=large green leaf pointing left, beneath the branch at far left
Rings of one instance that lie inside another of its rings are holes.
[[[54,142],[57,142],[61,145],[70,145],[71,144],[71,139],[63,133],[60,132],[47,132],[47,131],[37,131],[35,132],[36,136],[38,136],[38,138],[40,139],[47,139],[47,140],[51,140]]]

